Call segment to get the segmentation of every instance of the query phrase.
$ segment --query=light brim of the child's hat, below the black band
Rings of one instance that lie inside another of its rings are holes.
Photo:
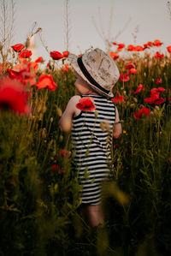
[[[111,91],[109,93],[103,92],[100,89],[98,89],[96,86],[92,85],[89,80],[87,80],[85,75],[80,70],[79,64],[77,63],[77,59],[78,59],[78,56],[76,56],[75,54],[70,53],[68,55],[68,61],[72,64],[74,70],[80,75],[80,77],[82,77],[88,83],[88,85],[91,86],[91,88],[97,93],[107,98],[114,98],[114,94]]]

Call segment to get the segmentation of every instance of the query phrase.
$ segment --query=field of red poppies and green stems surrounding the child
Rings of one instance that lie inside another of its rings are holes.
[[[2,56],[0,255],[170,255],[171,46],[112,47],[123,133],[97,229],[80,212],[70,135],[58,128],[75,94],[69,52],[51,51],[45,68],[22,44],[11,46],[9,61]]]

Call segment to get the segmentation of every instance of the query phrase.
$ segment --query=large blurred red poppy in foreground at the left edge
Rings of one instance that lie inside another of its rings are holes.
[[[28,97],[28,92],[23,90],[20,82],[10,80],[9,77],[0,80],[0,109],[28,115],[30,113]]]

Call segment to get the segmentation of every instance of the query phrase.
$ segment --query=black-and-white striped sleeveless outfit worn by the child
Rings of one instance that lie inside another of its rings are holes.
[[[96,110],[81,111],[73,118],[74,166],[82,188],[82,203],[98,205],[101,183],[109,175],[115,104],[100,95],[82,95],[94,99]]]

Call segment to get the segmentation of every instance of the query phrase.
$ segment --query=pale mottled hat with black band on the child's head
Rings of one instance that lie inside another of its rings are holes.
[[[82,57],[69,54],[68,61],[75,71],[99,94],[113,98],[112,88],[120,77],[115,61],[104,51],[95,49]]]

